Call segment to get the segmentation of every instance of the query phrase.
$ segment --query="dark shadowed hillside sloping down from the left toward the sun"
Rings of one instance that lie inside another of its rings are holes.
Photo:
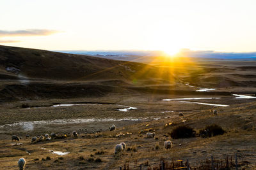
[[[122,85],[170,83],[173,76],[138,62],[0,46],[0,80],[0,99],[9,101],[104,96],[127,92]]]

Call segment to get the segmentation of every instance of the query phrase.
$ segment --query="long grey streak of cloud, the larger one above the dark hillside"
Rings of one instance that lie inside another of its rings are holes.
[[[8,36],[49,36],[59,31],[49,29],[25,29],[17,31],[3,31],[0,30],[0,37]]]

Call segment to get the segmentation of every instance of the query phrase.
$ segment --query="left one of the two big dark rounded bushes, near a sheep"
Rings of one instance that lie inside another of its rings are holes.
[[[179,138],[192,138],[195,137],[195,131],[192,127],[189,127],[187,125],[180,125],[179,127],[176,127],[171,132],[171,136],[173,139],[179,139]]]

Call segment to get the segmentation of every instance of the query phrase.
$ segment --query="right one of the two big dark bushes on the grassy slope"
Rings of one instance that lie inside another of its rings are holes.
[[[208,125],[199,131],[199,134],[202,138],[211,138],[212,136],[222,135],[224,133],[225,131],[222,129],[222,127],[216,124]]]

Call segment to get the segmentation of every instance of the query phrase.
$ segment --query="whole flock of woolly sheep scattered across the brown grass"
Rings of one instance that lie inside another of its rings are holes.
[[[218,114],[218,111],[213,110],[212,113],[216,116]],[[180,112],[179,116],[184,117],[184,114]],[[115,131],[115,130],[116,130],[115,125],[112,125],[111,127],[109,127],[109,131]],[[73,131],[72,134],[74,137],[78,137],[78,134],[76,131]],[[146,135],[147,135],[147,138],[154,138],[154,136],[156,136],[156,133],[155,132],[147,132]],[[55,133],[52,133],[51,136],[49,134],[45,134],[44,136],[41,135],[39,138],[35,136],[35,137],[31,138],[31,143],[37,143],[38,141],[44,141],[44,140],[49,141],[52,138],[56,138],[56,136],[57,136],[57,134],[55,134]],[[29,136],[26,136],[26,137],[29,137]],[[12,141],[19,141],[19,140],[20,140],[20,138],[18,136],[15,136],[15,135],[12,136]],[[124,152],[125,148],[127,148],[127,146],[124,142],[118,143],[115,146],[114,154]],[[165,148],[165,150],[172,148],[172,141],[164,141],[164,148]],[[23,170],[26,165],[26,160],[24,158],[20,158],[18,161],[18,165],[19,165],[19,169]]]

